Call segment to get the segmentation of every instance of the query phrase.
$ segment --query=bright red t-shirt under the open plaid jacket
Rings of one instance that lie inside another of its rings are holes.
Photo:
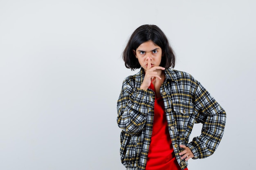
[[[152,83],[149,88],[155,91]],[[181,170],[173,151],[161,96],[155,98],[153,130],[146,170]],[[185,168],[185,170],[188,169]]]

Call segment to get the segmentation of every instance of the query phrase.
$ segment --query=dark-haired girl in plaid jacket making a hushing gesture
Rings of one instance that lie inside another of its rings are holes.
[[[141,68],[127,77],[117,101],[121,162],[127,170],[187,170],[187,161],[213,154],[223,135],[225,110],[188,73],[176,71],[166,35],[155,25],[132,33],[123,59]],[[189,142],[193,124],[202,134]]]

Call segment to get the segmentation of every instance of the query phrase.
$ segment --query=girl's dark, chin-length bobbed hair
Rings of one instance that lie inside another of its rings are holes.
[[[164,35],[163,31],[159,29],[158,26],[148,24],[139,26],[139,28],[137,28],[132,33],[123,52],[123,60],[125,62],[126,68],[135,70],[141,67],[139,61],[137,60],[133,53],[133,50],[136,51],[140,44],[147,42],[149,40],[153,41],[155,45],[161,47],[162,49],[163,56],[160,66],[164,68],[174,68],[175,54],[173,52],[173,49],[169,45],[166,35]]]

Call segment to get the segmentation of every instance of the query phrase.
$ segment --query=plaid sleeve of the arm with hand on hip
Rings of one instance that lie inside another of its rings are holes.
[[[222,138],[226,113],[209,92],[198,83],[194,98],[194,111],[199,113],[195,123],[202,123],[202,133],[194,137],[187,146],[194,154],[193,159],[202,159],[213,154]]]

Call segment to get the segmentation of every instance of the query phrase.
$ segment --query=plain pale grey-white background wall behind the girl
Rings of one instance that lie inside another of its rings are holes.
[[[131,33],[156,24],[175,69],[227,112],[216,152],[189,170],[255,167],[254,0],[0,0],[0,170],[124,170],[116,102]],[[200,135],[195,126],[191,139]]]

